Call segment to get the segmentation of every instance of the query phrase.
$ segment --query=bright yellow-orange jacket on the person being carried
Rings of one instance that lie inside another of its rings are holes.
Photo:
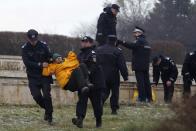
[[[71,73],[79,66],[77,55],[70,51],[64,62],[61,64],[52,63],[47,68],[43,68],[42,75],[49,76],[54,74],[61,88],[64,88],[68,83]]]

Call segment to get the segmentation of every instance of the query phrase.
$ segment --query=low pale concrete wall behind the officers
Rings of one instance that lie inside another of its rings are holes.
[[[131,71],[131,64],[127,63],[129,68],[129,82],[121,81],[120,102],[131,103],[131,97],[135,88],[135,76]],[[181,66],[178,66],[181,72]],[[152,70],[150,70],[152,76]],[[152,79],[152,77],[151,77]],[[181,99],[182,77],[179,74],[176,82],[174,100]],[[156,89],[158,102],[163,102],[163,87]],[[77,93],[63,91],[55,83],[52,85],[52,98],[54,105],[75,104]],[[19,56],[0,56],[0,104],[35,104],[28,89],[25,66]]]

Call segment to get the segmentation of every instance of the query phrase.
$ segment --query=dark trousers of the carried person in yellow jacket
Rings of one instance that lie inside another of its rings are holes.
[[[88,70],[84,64],[81,64],[78,68],[74,69],[69,82],[64,87],[65,90],[72,92],[78,91],[85,87],[88,79]]]

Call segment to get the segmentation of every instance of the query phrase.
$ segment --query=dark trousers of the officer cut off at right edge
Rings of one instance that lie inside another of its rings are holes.
[[[192,79],[196,80],[196,77],[189,78],[189,77],[183,76],[183,87],[184,87],[183,95],[186,95],[187,97],[189,97],[191,94]]]

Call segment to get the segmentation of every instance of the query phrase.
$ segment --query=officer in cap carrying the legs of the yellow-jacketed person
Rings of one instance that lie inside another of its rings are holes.
[[[96,118],[96,127],[102,126],[102,91],[105,87],[103,70],[100,65],[98,65],[96,60],[95,46],[93,44],[93,39],[89,36],[83,37],[81,41],[81,52],[78,55],[78,59],[81,64],[86,64],[89,72],[89,81],[94,85],[90,88],[88,93],[82,93],[78,91],[79,101],[76,107],[76,116],[73,118],[72,122],[77,127],[83,127],[83,119],[86,116],[88,98],[93,106],[94,115]]]

